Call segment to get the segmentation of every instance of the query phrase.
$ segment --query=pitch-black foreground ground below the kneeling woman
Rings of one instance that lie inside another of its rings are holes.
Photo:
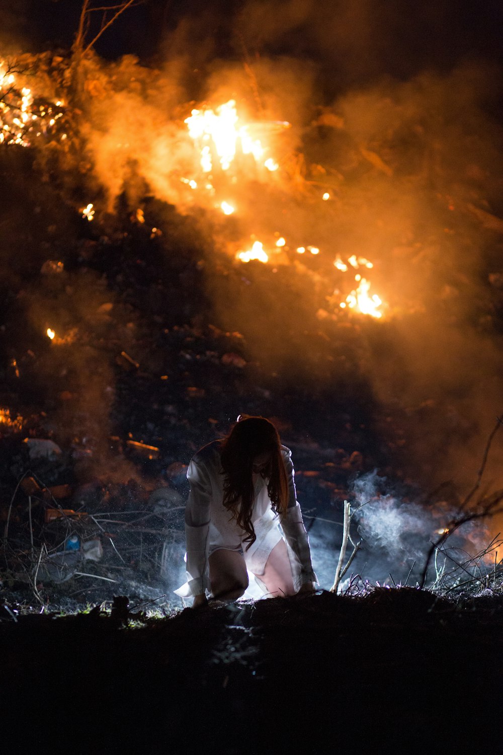
[[[131,624],[131,622],[130,622]],[[401,588],[0,624],[5,752],[389,753],[501,741],[503,607]],[[497,751],[497,750],[494,750]]]

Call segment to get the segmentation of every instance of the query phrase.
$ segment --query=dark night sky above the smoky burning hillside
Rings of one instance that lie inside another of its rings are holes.
[[[0,6],[5,42],[32,51],[72,45],[81,0],[2,0]],[[94,14],[96,23],[99,17]],[[333,96],[336,88],[382,75],[445,72],[462,60],[501,62],[502,21],[500,0],[146,0],[122,14],[96,50],[109,59],[136,54],[158,63],[179,53],[176,29],[182,25],[195,57],[201,47],[208,59],[224,60],[246,48],[250,57],[312,61]]]

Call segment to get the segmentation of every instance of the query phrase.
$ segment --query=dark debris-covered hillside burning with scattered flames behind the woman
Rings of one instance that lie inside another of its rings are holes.
[[[179,495],[192,452],[245,410],[282,428],[314,521],[374,469],[403,485],[398,541],[411,499],[433,507],[411,546],[424,558],[476,476],[501,397],[483,70],[313,106],[305,88],[293,102],[284,62],[257,61],[253,87],[249,66],[228,66],[191,100],[169,65],[90,54],[75,89],[70,57],[19,60],[2,69],[0,163],[26,162],[9,198],[23,215],[4,208],[14,306],[0,430],[65,449],[54,468],[37,462],[26,495],[62,488],[75,512],[93,479],[93,516],[103,501],[144,506],[166,481]],[[10,482],[33,464],[12,448]],[[451,477],[431,497],[415,487]],[[456,547],[480,553],[485,535]],[[333,538],[319,544],[328,575]],[[412,556],[388,545],[405,578]]]

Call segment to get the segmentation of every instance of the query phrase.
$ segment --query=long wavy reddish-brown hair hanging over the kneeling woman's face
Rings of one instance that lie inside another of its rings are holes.
[[[221,459],[225,474],[223,505],[247,532],[244,538],[248,542],[247,550],[256,541],[251,522],[255,500],[253,461],[257,456],[266,454],[269,460],[261,474],[267,480],[267,492],[273,509],[284,514],[288,505],[288,479],[278,430],[264,417],[241,414],[231,432],[222,440]]]

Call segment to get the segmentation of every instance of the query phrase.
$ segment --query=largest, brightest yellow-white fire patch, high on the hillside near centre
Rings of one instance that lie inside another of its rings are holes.
[[[268,149],[252,136],[250,126],[241,123],[235,100],[228,100],[214,110],[193,109],[185,123],[189,136],[200,150],[199,162],[203,173],[213,171],[215,158],[222,171],[227,171],[240,151],[244,155],[252,155],[256,163],[268,171],[279,168],[275,159],[267,156]]]

